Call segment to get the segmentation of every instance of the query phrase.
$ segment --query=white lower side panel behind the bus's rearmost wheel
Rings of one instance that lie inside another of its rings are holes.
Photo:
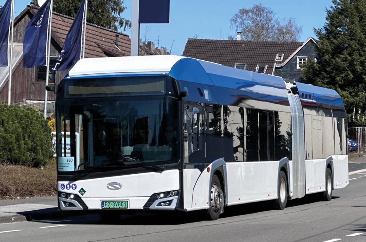
[[[348,155],[333,156],[334,189],[341,189],[348,185]]]

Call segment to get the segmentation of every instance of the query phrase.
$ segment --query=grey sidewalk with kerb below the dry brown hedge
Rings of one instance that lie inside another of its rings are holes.
[[[0,200],[0,223],[51,218],[57,214],[57,196]]]

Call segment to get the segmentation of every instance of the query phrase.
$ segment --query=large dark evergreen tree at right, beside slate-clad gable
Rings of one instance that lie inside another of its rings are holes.
[[[335,89],[350,125],[365,125],[366,0],[333,0],[326,22],[314,29],[320,43],[317,62],[302,68],[306,82]]]

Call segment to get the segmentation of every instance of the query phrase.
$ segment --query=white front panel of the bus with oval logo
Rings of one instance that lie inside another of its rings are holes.
[[[122,188],[109,190],[107,184],[110,182],[119,182]],[[61,189],[61,184],[68,182],[57,182],[58,191],[78,194],[89,209],[100,209],[101,200],[111,199],[129,200],[129,208],[142,209],[152,194],[179,189],[179,170],[79,180],[70,183],[76,184],[75,190]],[[79,194],[81,188],[86,191],[83,196]]]

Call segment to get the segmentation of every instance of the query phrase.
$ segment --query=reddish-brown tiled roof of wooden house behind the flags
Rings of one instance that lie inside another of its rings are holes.
[[[38,8],[27,6],[16,18],[20,19],[27,11],[32,15]],[[53,12],[52,14],[52,38],[61,47],[65,42],[66,35],[71,27],[74,18]],[[118,48],[115,46],[116,34],[119,34]],[[109,56],[130,56],[131,39],[127,34],[119,33],[114,30],[106,29],[95,24],[87,23],[85,36],[85,57],[107,57]],[[151,51],[149,51],[151,52]],[[145,48],[140,48],[140,55],[145,55]],[[156,48],[154,52],[147,54],[160,54],[160,49]]]

